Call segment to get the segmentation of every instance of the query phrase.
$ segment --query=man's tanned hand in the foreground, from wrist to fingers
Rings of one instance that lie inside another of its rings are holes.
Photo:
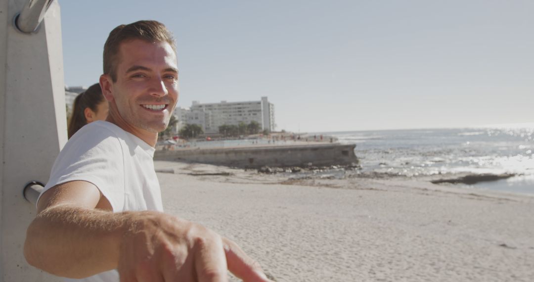
[[[121,282],[270,281],[234,242],[185,220],[158,212],[126,212],[118,271]]]

